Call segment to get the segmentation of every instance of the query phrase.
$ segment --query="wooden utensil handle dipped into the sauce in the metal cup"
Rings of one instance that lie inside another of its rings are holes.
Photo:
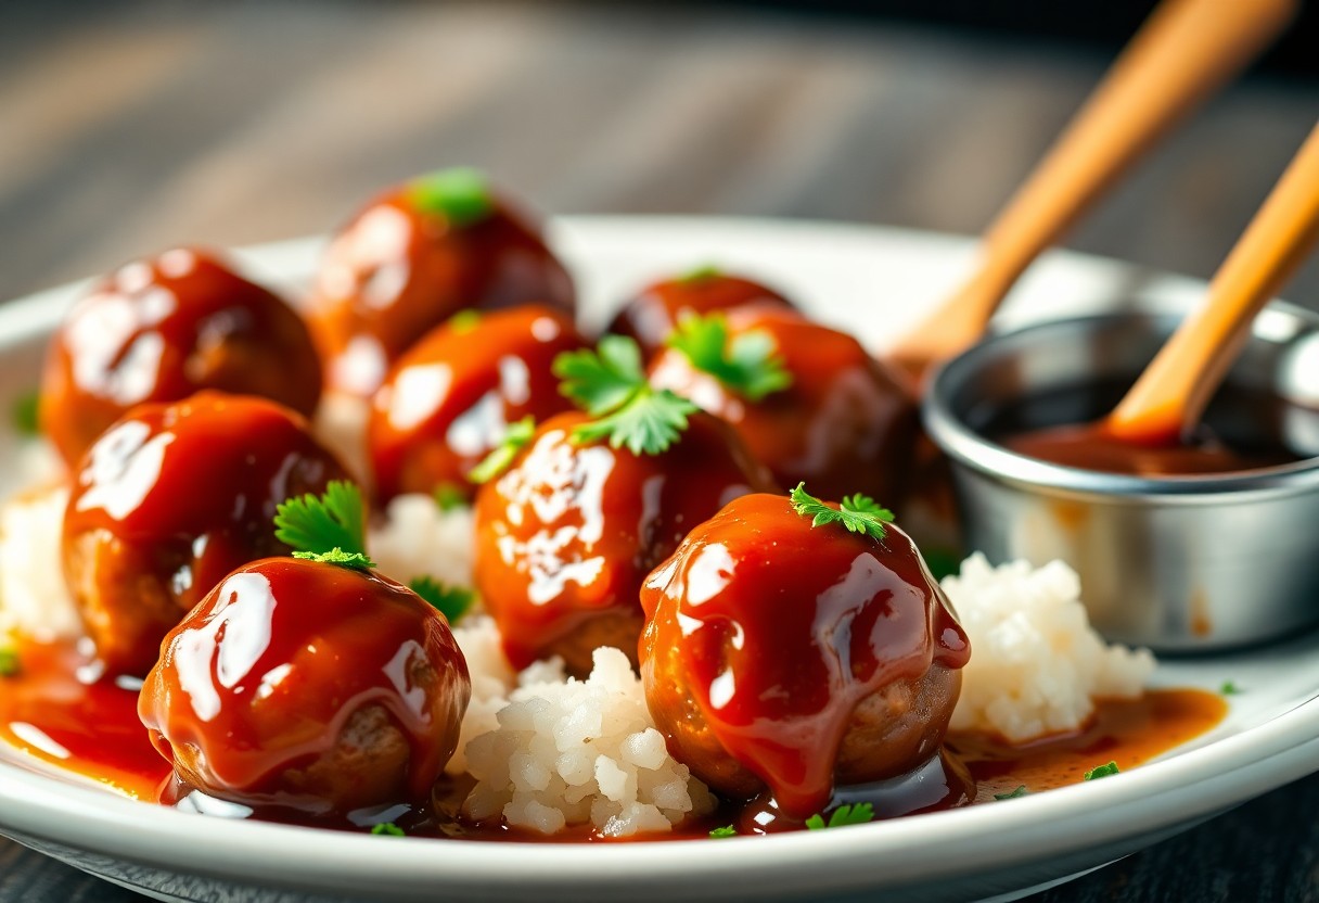
[[[1319,124],[1210,283],[1204,304],[1159,350],[1109,415],[1115,434],[1177,441],[1194,426],[1250,322],[1319,240]]]

